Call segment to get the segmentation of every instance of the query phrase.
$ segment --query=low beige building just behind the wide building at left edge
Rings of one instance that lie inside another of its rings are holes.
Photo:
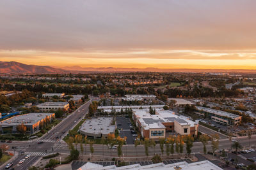
[[[38,104],[36,107],[39,108],[40,111],[56,111],[56,110],[65,110],[68,111],[69,103],[67,102],[45,102]]]

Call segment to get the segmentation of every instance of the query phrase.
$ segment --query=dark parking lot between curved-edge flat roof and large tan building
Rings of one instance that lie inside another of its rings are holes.
[[[136,137],[132,136],[133,134],[131,132],[129,124],[131,124],[131,121],[129,118],[125,118],[125,117],[117,117],[116,118],[117,128],[121,129],[119,131],[120,137],[124,138],[126,136],[127,137],[127,139],[126,139],[127,145],[132,145],[132,144],[134,144],[134,139]]]

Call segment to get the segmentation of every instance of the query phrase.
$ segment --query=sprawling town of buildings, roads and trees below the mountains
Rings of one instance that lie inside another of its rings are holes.
[[[0,80],[1,157],[12,160],[6,168],[255,168],[256,74],[1,74]]]

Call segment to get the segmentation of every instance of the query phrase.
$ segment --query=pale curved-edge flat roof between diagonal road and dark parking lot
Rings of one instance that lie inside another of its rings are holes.
[[[86,120],[79,131],[89,134],[109,134],[115,132],[115,125],[111,125],[113,118],[100,117]]]

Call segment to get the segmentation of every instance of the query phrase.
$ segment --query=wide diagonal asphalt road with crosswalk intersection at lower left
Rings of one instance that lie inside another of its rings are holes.
[[[48,134],[45,134],[40,139],[36,139],[35,141],[31,142],[8,143],[7,145],[9,145],[10,148],[12,148],[12,146],[19,146],[19,148],[16,150],[17,152],[25,152],[24,155],[19,155],[12,161],[13,167],[19,170],[28,169],[28,167],[35,163],[40,157],[51,152],[56,152],[57,148],[61,145],[61,138],[63,138],[65,134],[67,134],[67,132],[72,129],[84,117],[84,115],[86,115],[86,113],[88,113],[89,104],[90,101],[83,104],[76,111],[74,111],[74,113],[62,120],[60,124],[53,127]],[[57,136],[58,139],[56,138]],[[44,143],[38,144],[38,141],[43,141]],[[28,154],[31,154],[31,157],[19,165],[19,160],[24,159],[24,157],[26,157]]]

